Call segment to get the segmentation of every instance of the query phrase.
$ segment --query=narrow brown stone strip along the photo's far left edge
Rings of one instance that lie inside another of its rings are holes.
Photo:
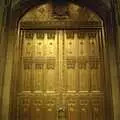
[[[0,1],[0,106],[2,106],[3,84],[4,84],[4,69],[6,59],[6,46],[7,46],[7,6],[4,0]],[[2,107],[0,107],[1,116]]]

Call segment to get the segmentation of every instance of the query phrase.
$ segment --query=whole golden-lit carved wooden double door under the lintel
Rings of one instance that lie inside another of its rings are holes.
[[[100,30],[21,30],[17,120],[105,120]]]

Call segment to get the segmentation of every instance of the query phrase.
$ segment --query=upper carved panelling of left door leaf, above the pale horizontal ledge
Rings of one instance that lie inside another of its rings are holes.
[[[57,41],[55,31],[24,31],[21,47],[23,90],[55,90]]]

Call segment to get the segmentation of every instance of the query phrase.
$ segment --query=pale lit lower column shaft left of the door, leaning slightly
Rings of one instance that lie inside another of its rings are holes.
[[[13,58],[14,58],[14,40],[15,30],[10,30],[6,51],[6,63],[4,71],[4,84],[2,93],[2,115],[1,120],[9,120],[10,92],[12,84]]]

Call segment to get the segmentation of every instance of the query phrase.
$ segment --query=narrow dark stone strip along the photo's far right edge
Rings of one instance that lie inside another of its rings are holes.
[[[114,16],[115,16],[115,41],[116,41],[116,46],[115,46],[115,52],[116,52],[116,64],[117,64],[117,79],[118,82],[116,81],[116,100],[114,105],[116,106],[115,111],[116,111],[116,116],[115,120],[120,119],[120,107],[118,108],[120,104],[120,0],[114,0]],[[115,83],[115,81],[114,81]],[[118,100],[117,100],[118,99]],[[119,101],[119,103],[118,103]]]

